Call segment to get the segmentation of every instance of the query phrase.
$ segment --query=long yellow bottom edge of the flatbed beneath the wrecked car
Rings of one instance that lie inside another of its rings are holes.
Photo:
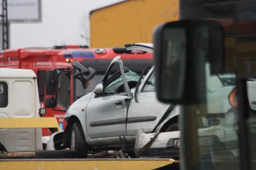
[[[97,158],[97,159],[2,159],[0,170],[24,170],[26,167],[36,170],[153,170],[176,169],[178,161],[169,158]],[[176,168],[172,168],[176,167]]]

